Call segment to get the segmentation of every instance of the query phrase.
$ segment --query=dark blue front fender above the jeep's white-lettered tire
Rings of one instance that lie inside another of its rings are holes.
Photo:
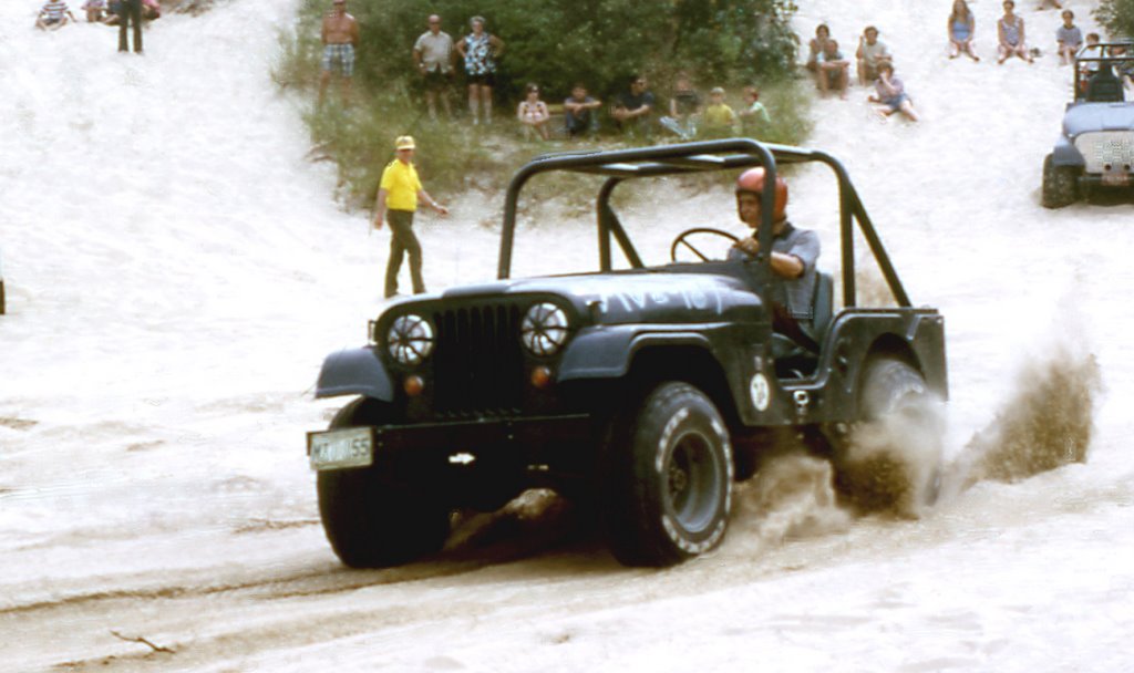
[[[564,352],[559,381],[620,378],[637,352],[665,346],[693,346],[712,352],[709,338],[699,332],[642,332],[637,325],[616,325],[576,336]]]

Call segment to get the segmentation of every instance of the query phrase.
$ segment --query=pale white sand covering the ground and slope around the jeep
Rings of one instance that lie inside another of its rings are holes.
[[[481,552],[350,572],[303,441],[340,402],[310,397],[322,357],[379,310],[387,238],[336,205],[268,76],[296,2],[168,16],[144,58],[5,3],[3,670],[1128,671],[1134,208],[1039,205],[1069,90],[1057,14],[1022,2],[1044,56],[997,66],[999,3],[972,2],[974,65],[946,58],[948,5],[801,9],[801,34],[824,20],[849,46],[878,25],[924,116],[880,122],[855,87],[818,102],[811,144],[845,161],[914,301],[947,316],[953,457],[1005,411],[1034,404],[1043,426],[1063,389],[1035,402],[1036,376],[1074,383],[1094,355],[1086,463],[978,483],[915,522],[848,520],[821,468],[792,466],[779,500],[744,491],[720,551],[662,572],[564,542],[539,511]],[[793,218],[833,266],[832,198],[794,177]],[[494,271],[492,208],[454,205],[421,222],[433,288]],[[658,257],[687,224],[736,228],[731,207],[722,185],[629,211]],[[550,216],[522,249],[593,258],[585,223]]]

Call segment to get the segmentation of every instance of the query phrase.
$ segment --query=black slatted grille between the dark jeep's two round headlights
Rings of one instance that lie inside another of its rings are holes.
[[[523,402],[517,305],[464,306],[433,314],[433,404],[441,416],[511,416]]]

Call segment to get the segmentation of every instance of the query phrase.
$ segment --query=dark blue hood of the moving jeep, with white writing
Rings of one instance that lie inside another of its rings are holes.
[[[735,271],[744,272],[738,265]],[[733,275],[668,271],[502,280],[450,288],[440,299],[483,301],[516,295],[561,297],[601,324],[751,321],[761,306],[760,297]]]

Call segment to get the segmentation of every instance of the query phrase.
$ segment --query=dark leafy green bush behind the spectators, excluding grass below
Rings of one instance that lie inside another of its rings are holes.
[[[553,97],[566,97],[575,80],[610,96],[638,71],[668,79],[686,69],[714,84],[778,77],[797,48],[787,0],[354,0],[350,8],[362,32],[358,75],[375,88],[405,87],[414,41],[431,12],[454,40],[468,34],[472,16],[486,19],[506,44],[498,90],[507,100],[518,99],[527,82]]]

